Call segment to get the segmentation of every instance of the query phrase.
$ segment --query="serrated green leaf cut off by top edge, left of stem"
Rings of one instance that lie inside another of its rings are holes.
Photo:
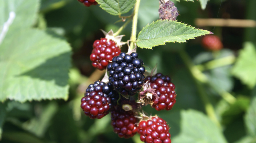
[[[100,7],[112,15],[121,15],[132,9],[136,0],[96,0]]]

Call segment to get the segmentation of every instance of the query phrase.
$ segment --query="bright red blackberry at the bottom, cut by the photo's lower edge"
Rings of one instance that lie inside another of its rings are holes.
[[[147,121],[141,121],[138,125],[138,134],[145,143],[171,143],[169,126],[166,121],[153,116]]]

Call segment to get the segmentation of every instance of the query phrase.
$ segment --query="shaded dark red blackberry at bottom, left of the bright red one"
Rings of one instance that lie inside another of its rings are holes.
[[[137,133],[138,119],[132,111],[116,109],[111,111],[111,125],[120,138],[130,138]]]

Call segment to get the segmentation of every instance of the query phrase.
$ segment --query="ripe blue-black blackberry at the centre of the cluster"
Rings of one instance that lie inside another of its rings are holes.
[[[108,64],[109,81],[114,89],[122,95],[134,96],[142,88],[145,80],[145,67],[138,54],[133,52],[130,55],[124,52],[113,57],[113,63]]]

